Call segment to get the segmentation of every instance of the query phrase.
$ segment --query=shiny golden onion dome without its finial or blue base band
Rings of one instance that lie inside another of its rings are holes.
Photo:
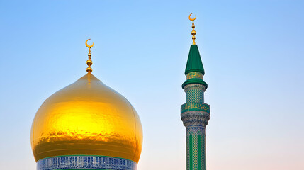
[[[128,100],[89,72],[40,106],[31,144],[36,162],[63,155],[100,155],[138,163],[142,125]]]

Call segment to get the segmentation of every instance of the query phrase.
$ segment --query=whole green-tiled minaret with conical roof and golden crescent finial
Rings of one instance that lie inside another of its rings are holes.
[[[187,170],[206,170],[205,129],[210,118],[210,106],[204,103],[204,92],[208,85],[203,81],[205,71],[195,42],[194,20],[196,17],[190,16],[193,45],[190,47],[186,64],[186,81],[182,84],[186,92],[186,103],[181,105],[181,120],[186,127]]]

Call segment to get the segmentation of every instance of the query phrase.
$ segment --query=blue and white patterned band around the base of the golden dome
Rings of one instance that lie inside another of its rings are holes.
[[[40,159],[37,170],[53,169],[116,169],[135,170],[136,162],[128,159],[101,156],[64,156]]]

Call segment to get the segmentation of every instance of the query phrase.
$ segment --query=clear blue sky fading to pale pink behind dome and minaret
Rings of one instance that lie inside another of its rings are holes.
[[[139,113],[139,170],[186,169],[181,84],[196,14],[208,170],[304,169],[304,1],[0,1],[0,169],[33,170],[47,97],[93,74]]]

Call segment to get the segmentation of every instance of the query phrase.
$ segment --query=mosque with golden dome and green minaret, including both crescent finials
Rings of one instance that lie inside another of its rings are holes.
[[[186,169],[206,170],[205,128],[210,106],[204,103],[207,84],[195,42],[196,17],[191,14],[193,44],[182,84],[186,103],[181,105],[181,120],[186,127]],[[30,139],[37,170],[137,169],[142,151],[140,117],[125,97],[91,73],[94,43],[87,42],[87,73],[47,98],[33,120]]]

